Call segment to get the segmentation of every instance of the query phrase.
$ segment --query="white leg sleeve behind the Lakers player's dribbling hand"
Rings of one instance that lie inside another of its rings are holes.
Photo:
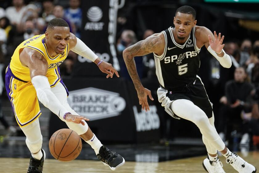
[[[57,83],[55,87],[51,88],[51,91],[55,94],[60,103],[68,110],[68,112],[70,112],[73,115],[78,115],[72,108],[70,108],[67,101],[67,92],[62,83]],[[65,121],[65,123],[68,125],[69,129],[74,130],[78,135],[84,134],[88,130],[88,124],[86,122],[85,125],[75,124],[67,121]]]

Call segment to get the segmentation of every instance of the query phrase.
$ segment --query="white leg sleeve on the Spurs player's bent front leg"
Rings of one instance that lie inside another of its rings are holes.
[[[215,127],[210,124],[205,112],[202,111],[198,106],[196,106],[190,100],[179,99],[175,100],[171,104],[171,109],[180,118],[190,120],[196,124],[200,129],[201,134],[205,139],[208,140],[210,145],[219,151],[224,150],[224,142],[221,140]]]

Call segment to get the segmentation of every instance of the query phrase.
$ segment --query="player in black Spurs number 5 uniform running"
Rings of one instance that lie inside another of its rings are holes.
[[[197,75],[199,51],[205,45],[223,67],[230,68],[232,63],[223,50],[224,36],[221,37],[220,33],[217,36],[216,32],[213,35],[208,28],[196,26],[195,16],[196,12],[192,7],[182,6],[177,9],[174,17],[175,28],[169,27],[124,50],[123,58],[137,90],[139,104],[147,111],[147,95],[151,100],[154,99],[150,90],[142,86],[134,57],[153,53],[160,83],[158,100],[174,118],[190,120],[198,126],[208,151],[208,158],[203,161],[204,169],[210,173],[224,172],[217,157],[218,150],[238,172],[256,172],[253,165],[225,147],[215,129],[212,104]]]

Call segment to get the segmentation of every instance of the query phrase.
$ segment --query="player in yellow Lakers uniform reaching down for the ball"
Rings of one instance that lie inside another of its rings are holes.
[[[58,66],[73,52],[96,63],[100,70],[113,77],[118,72],[102,61],[80,39],[69,32],[63,19],[52,19],[43,35],[23,41],[14,51],[6,69],[6,91],[14,110],[15,118],[26,136],[31,151],[27,173],[42,173],[45,152],[39,127],[39,102],[49,108],[70,129],[74,130],[94,149],[97,157],[114,171],[125,160],[121,155],[103,146],[88,127],[87,118],[79,116],[67,102],[68,90],[60,78]]]

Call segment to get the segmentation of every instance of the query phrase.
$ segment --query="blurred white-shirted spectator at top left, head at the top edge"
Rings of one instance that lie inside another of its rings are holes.
[[[19,28],[23,13],[26,11],[23,0],[13,0],[13,5],[6,8],[6,17],[10,20],[11,24]]]

